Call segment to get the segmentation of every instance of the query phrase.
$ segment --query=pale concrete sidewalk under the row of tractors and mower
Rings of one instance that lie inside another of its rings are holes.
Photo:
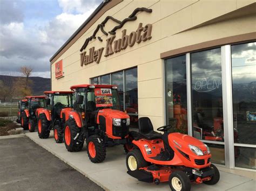
[[[64,143],[55,143],[52,131],[48,139],[39,139],[37,132],[26,133],[26,136],[106,190],[170,190],[167,182],[154,185],[140,182],[128,175],[125,164],[126,154],[122,145],[107,148],[106,159],[100,164],[93,164],[87,156],[86,145],[82,151],[71,153],[66,150]],[[255,180],[223,171],[220,171],[220,181],[217,185],[193,184],[191,186],[191,190],[255,189]]]

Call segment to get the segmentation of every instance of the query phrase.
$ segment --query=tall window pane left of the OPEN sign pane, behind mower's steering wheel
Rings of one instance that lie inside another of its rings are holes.
[[[165,60],[167,124],[187,134],[186,55]]]

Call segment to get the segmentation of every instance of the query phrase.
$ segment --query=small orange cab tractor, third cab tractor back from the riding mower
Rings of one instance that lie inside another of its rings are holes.
[[[26,96],[28,107],[22,111],[21,124],[23,129],[34,132],[37,124],[36,111],[45,107],[46,96]]]

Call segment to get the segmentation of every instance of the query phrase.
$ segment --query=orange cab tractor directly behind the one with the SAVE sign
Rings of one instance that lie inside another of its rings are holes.
[[[73,107],[73,91],[45,91],[46,107],[37,110],[38,136],[45,139],[53,129],[56,143],[63,142],[65,111]]]

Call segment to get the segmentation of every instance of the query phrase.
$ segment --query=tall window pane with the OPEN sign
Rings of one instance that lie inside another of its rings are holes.
[[[221,49],[191,53],[193,136],[224,142]]]

